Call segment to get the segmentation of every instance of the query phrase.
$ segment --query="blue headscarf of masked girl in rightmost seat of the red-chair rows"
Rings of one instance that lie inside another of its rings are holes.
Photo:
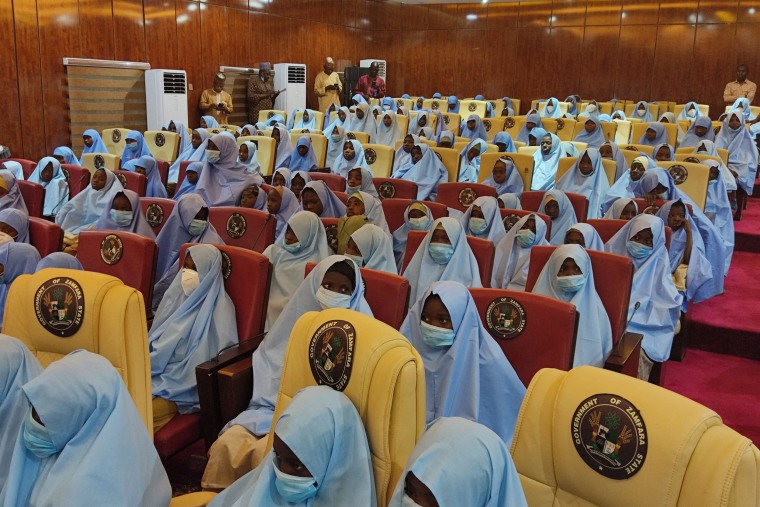
[[[628,254],[627,243],[644,229],[652,231],[652,253],[643,259]],[[633,285],[628,307],[629,332],[641,333],[641,346],[653,361],[667,361],[680,316],[682,297],[673,284],[665,248],[665,224],[659,217],[637,215],[604,246],[610,253],[631,257]],[[639,309],[636,310],[636,303]]]

